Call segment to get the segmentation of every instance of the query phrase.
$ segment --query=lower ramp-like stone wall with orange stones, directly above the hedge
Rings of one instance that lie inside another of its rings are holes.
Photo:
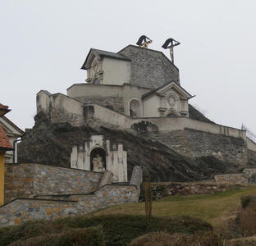
[[[135,185],[105,185],[93,194],[62,194],[20,198],[0,207],[0,227],[32,219],[53,220],[58,216],[84,215],[103,207],[138,202]]]

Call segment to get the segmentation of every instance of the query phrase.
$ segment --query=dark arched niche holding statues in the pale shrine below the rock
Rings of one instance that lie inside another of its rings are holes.
[[[106,170],[106,152],[103,148],[94,148],[89,154],[89,159],[91,171]]]

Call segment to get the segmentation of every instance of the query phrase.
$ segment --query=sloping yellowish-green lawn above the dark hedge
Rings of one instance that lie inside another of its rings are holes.
[[[170,196],[153,202],[153,216],[193,216],[220,225],[230,216],[235,216],[240,198],[251,194],[256,194],[256,185],[216,194]],[[144,203],[122,204],[94,212],[94,215],[104,214],[144,215]]]

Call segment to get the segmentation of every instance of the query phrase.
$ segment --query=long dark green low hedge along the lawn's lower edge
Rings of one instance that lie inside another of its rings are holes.
[[[207,222],[188,216],[152,217],[150,227],[146,216],[105,215],[71,216],[55,221],[28,221],[23,225],[0,229],[0,245],[8,245],[18,239],[25,240],[46,234],[60,234],[63,230],[103,226],[106,245],[126,245],[133,239],[153,231],[193,234],[197,230],[212,230]],[[52,232],[53,231],[53,232]]]

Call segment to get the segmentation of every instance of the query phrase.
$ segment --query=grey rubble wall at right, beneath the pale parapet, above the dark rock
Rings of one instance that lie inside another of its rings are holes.
[[[190,157],[213,156],[237,167],[247,165],[247,145],[242,138],[185,129],[154,135],[163,144]]]

